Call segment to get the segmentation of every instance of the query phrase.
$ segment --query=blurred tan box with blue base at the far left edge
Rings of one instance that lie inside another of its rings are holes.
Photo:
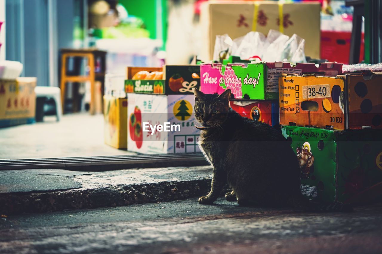
[[[0,127],[35,122],[36,77],[0,79]]]

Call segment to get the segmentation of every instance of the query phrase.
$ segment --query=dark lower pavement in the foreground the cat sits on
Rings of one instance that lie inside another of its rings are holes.
[[[382,204],[352,213],[197,198],[0,219],[0,253],[380,253]]]

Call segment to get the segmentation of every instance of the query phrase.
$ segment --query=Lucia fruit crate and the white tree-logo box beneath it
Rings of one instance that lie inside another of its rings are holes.
[[[140,71],[163,72],[163,77],[142,79],[137,75]],[[128,150],[144,154],[199,151],[199,130],[194,127],[193,116],[194,87],[200,87],[199,65],[128,67]],[[170,131],[164,131],[166,128]]]

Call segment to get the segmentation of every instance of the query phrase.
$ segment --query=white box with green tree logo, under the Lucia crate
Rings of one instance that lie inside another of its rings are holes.
[[[200,131],[194,126],[194,95],[128,94],[129,151],[144,154],[198,152]],[[168,127],[157,129],[155,124]],[[150,126],[154,128],[152,131]]]

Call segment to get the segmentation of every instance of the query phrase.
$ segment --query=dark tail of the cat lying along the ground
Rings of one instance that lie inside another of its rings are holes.
[[[288,205],[307,212],[353,212],[350,204],[335,202],[332,204],[319,204],[311,202],[302,195],[297,195],[288,200]]]

